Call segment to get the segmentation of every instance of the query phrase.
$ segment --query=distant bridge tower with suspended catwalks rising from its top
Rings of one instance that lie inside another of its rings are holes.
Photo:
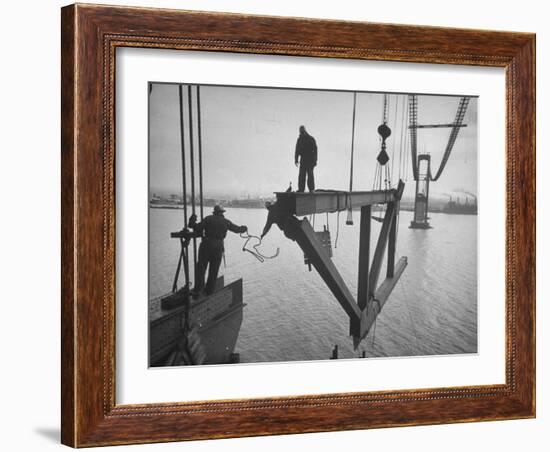
[[[430,195],[430,182],[435,182],[445,169],[447,161],[453,150],[453,146],[458,137],[458,133],[462,127],[467,127],[463,124],[464,116],[470,102],[469,97],[461,97],[458,103],[455,120],[451,124],[418,124],[418,98],[416,94],[409,95],[409,132],[411,136],[411,155],[413,177],[416,181],[416,191],[414,197],[414,217],[409,226],[412,229],[430,229],[428,222],[428,200]],[[435,129],[435,128],[450,128],[449,141],[445,148],[441,164],[435,176],[431,170],[430,154],[417,152],[417,133],[418,129]]]

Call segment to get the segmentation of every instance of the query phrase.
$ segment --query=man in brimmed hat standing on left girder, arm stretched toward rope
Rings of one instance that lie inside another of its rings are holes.
[[[225,210],[221,206],[214,206],[212,215],[205,217],[200,223],[197,223],[197,216],[191,215],[189,218],[189,227],[193,228],[195,234],[202,237],[199,246],[199,261],[195,275],[195,287],[193,294],[198,295],[204,289],[204,276],[208,267],[208,280],[206,282],[206,293],[210,295],[214,292],[218,270],[223,256],[223,240],[227,231],[237,234],[246,232],[246,226],[237,226],[223,216]]]

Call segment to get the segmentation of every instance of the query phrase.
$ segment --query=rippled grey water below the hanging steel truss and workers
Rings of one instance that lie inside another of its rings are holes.
[[[259,235],[266,214],[227,209],[226,216]],[[354,219],[354,226],[346,226],[345,213],[340,215],[333,261],[357,293],[358,212]],[[260,263],[242,252],[243,239],[228,233],[220,273],[226,282],[243,278],[247,306],[236,347],[241,362],[327,359],[335,344],[341,358],[363,351],[377,357],[477,352],[477,216],[434,213],[434,229],[427,231],[409,229],[411,219],[412,212],[401,212],[396,255],[408,256],[409,265],[357,351],[347,315],[316,271],[308,271],[296,243],[273,226],[261,250],[269,255],[279,247],[279,256]],[[334,245],[337,215],[328,220]],[[326,215],[317,215],[316,229],[326,221]],[[170,291],[179,256],[170,232],[182,224],[181,210],[150,209],[150,298]],[[373,221],[372,228],[371,256],[380,223]]]

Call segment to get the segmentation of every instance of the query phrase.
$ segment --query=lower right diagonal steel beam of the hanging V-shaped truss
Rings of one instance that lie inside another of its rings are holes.
[[[360,342],[367,336],[370,331],[370,328],[374,324],[376,317],[382,311],[382,308],[386,301],[388,300],[390,294],[393,291],[393,288],[401,278],[401,275],[407,267],[407,258],[405,256],[401,257],[399,261],[395,264],[395,270],[393,277],[387,277],[384,279],[382,284],[378,286],[378,289],[374,293],[374,297],[371,297],[367,303],[367,306],[361,312],[361,321],[359,324],[359,331],[357,331],[357,326],[353,325],[353,322],[350,322],[350,330],[353,336],[353,348],[357,349]],[[355,323],[357,325],[357,323]],[[355,330],[355,331],[354,331]]]

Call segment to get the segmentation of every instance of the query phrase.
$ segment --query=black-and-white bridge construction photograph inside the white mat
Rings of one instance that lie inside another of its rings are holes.
[[[476,96],[144,95],[150,367],[478,352]]]

